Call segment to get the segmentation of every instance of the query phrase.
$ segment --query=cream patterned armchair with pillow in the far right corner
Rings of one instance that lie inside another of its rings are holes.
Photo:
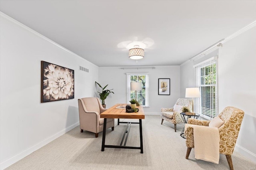
[[[172,108],[161,108],[161,118],[163,124],[163,121],[169,121],[174,124],[174,131],[176,132],[176,124],[178,123],[184,123],[184,120],[182,119],[180,113],[182,112],[182,107],[188,107],[190,111],[192,111],[192,100],[191,99],[183,99],[180,98],[175,103],[174,107]]]

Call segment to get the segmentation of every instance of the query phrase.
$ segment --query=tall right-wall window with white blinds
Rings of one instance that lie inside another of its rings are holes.
[[[217,57],[194,65],[196,87],[201,97],[194,102],[194,111],[206,119],[218,115]]]

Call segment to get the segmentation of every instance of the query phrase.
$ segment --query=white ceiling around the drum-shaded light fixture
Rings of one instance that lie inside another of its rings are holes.
[[[255,21],[256,1],[0,0],[0,11],[97,66],[180,65]],[[147,38],[138,63],[119,48]]]

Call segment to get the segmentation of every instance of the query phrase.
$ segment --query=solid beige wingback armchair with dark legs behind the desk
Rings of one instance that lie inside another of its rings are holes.
[[[98,137],[99,132],[103,131],[104,118],[100,118],[100,114],[104,109],[99,98],[82,98],[78,99],[79,121],[81,133],[90,131]],[[107,129],[112,127],[114,131],[115,119],[107,119]]]

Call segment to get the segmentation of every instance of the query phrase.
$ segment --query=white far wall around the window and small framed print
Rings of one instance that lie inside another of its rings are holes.
[[[135,61],[134,61],[135,62]],[[135,64],[135,63],[134,63]],[[144,69],[120,69],[120,67],[99,67],[99,83],[108,89],[114,88],[115,94],[110,94],[105,100],[108,107],[117,103],[126,103],[126,73],[148,72],[149,73],[149,105],[144,107],[145,114],[160,115],[161,107],[173,107],[180,98],[180,66],[154,66]],[[170,78],[170,96],[158,95],[158,78]]]

